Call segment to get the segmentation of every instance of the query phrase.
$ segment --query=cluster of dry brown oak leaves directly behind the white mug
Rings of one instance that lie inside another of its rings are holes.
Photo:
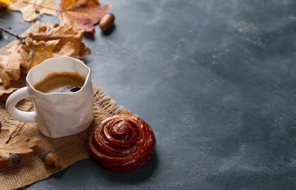
[[[11,80],[18,80],[34,66],[48,58],[71,56],[81,59],[91,53],[82,42],[84,30],[75,30],[67,24],[59,26],[36,22],[31,33],[19,39],[0,54],[0,96],[16,88],[9,87]]]

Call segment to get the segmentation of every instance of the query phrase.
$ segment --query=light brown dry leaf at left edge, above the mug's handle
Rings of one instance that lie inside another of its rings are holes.
[[[20,40],[13,43],[4,55],[0,54],[0,78],[4,86],[10,85],[10,80],[18,80],[21,76],[20,66],[26,68],[26,57],[23,53],[28,53],[30,49],[25,48]]]

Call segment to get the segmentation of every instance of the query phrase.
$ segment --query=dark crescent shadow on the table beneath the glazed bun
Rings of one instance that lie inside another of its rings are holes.
[[[106,169],[102,169],[100,170],[100,172],[102,172],[102,178],[106,178],[107,180],[112,182],[138,184],[142,181],[147,180],[157,169],[157,165],[157,152],[154,152],[152,157],[138,169],[129,172],[112,172]]]

